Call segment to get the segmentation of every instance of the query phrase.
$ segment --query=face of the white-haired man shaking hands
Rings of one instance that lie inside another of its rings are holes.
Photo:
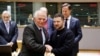
[[[44,27],[44,24],[46,22],[46,14],[45,13],[42,13],[42,14],[38,14],[38,16],[34,19],[36,25],[38,27]]]

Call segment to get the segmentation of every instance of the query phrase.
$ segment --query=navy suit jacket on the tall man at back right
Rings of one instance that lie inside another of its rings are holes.
[[[72,30],[72,32],[75,35],[73,50],[75,52],[78,52],[79,51],[79,41],[82,38],[82,30],[81,30],[79,19],[71,16],[69,29]]]

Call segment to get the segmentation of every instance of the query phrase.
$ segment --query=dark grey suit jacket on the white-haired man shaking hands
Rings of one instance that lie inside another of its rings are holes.
[[[45,37],[47,37],[45,29],[43,29],[43,32]],[[23,32],[22,49],[19,56],[44,56],[46,47],[43,45],[43,40],[40,34],[41,33],[35,23],[25,27]],[[45,38],[46,42],[47,38]]]

